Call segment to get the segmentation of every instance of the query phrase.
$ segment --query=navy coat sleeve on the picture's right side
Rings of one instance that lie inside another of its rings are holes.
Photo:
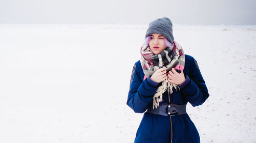
[[[208,90],[199,70],[197,61],[191,60],[189,75],[186,76],[187,85],[181,88],[181,93],[192,106],[199,106],[209,97]]]

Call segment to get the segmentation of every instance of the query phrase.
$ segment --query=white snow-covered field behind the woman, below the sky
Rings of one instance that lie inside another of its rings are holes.
[[[0,24],[0,142],[133,142],[126,105],[147,25]],[[174,25],[210,97],[201,142],[256,142],[256,25]]]

